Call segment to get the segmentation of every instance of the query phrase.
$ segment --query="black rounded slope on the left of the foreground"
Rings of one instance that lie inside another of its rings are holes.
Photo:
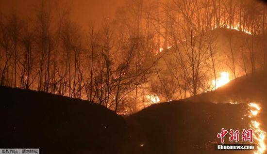
[[[42,154],[118,154],[125,121],[98,104],[0,87],[0,148],[40,148]]]

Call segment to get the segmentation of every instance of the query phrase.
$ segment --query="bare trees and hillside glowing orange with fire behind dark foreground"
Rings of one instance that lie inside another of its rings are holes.
[[[42,0],[0,15],[0,85],[97,102],[119,113],[210,92],[266,66],[256,0],[127,0],[89,26]]]

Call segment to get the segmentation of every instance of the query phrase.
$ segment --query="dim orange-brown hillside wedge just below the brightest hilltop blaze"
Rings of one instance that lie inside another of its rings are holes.
[[[257,71],[254,74],[238,77],[231,80],[228,84],[212,92],[205,92],[185,101],[193,102],[264,102],[267,101],[267,72]]]

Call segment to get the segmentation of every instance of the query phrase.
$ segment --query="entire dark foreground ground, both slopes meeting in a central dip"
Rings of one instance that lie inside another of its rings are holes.
[[[45,92],[0,87],[0,97],[0,145],[44,154],[214,154],[222,127],[249,128],[249,119],[241,120],[247,104],[172,101],[123,118],[98,104]]]

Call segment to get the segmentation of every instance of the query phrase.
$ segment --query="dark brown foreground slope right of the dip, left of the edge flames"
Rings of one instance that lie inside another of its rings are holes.
[[[143,153],[139,154],[251,154],[251,151],[215,151],[221,128],[248,129],[246,104],[173,101],[152,105],[127,118],[138,123]],[[225,140],[228,140],[225,138]],[[148,153],[149,151],[149,153]]]

